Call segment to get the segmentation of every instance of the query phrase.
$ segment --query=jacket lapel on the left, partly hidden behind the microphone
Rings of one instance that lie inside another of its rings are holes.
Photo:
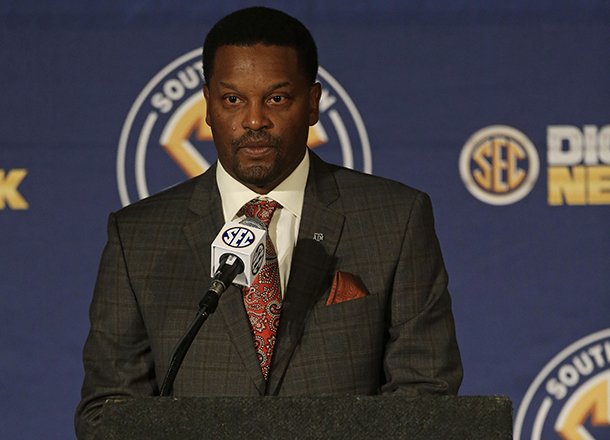
[[[216,184],[216,166],[204,173],[193,191],[190,210],[197,214],[195,220],[184,227],[189,245],[197,255],[198,264],[204,272],[209,271],[210,246],[224,224],[222,201]],[[208,286],[206,285],[205,288]],[[205,292],[201,292],[203,294]],[[225,321],[227,331],[238,351],[245,370],[261,394],[265,390],[265,380],[254,350],[254,342],[244,309],[241,290],[230,286],[220,298],[217,313]]]

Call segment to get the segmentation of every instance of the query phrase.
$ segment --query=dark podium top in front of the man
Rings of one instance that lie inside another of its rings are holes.
[[[99,439],[512,439],[506,397],[151,397],[108,402]]]

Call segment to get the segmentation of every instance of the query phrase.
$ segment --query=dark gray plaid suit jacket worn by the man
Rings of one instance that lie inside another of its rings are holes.
[[[268,382],[231,286],[174,395],[457,393],[462,367],[428,196],[315,154],[310,167]],[[107,398],[158,394],[209,287],[210,245],[223,224],[215,166],[111,214],[84,349],[79,438],[93,432]],[[368,295],[326,305],[336,271],[357,276]]]

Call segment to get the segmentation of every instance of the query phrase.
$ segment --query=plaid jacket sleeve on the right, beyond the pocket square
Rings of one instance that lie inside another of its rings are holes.
[[[447,284],[430,199],[419,193],[388,304],[382,393],[457,394],[462,364]]]

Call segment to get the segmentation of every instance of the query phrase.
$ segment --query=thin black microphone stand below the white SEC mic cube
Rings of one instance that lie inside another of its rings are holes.
[[[199,333],[199,329],[212,313],[216,311],[220,295],[227,289],[235,277],[244,271],[244,263],[238,257],[232,254],[225,254],[220,258],[220,266],[214,274],[214,279],[210,284],[210,288],[199,302],[199,310],[195,319],[191,323],[188,331],[182,337],[172,354],[169,368],[161,385],[160,396],[166,397],[172,394],[174,380],[178,374],[178,370],[182,365],[182,361],[189,351],[195,336]]]

